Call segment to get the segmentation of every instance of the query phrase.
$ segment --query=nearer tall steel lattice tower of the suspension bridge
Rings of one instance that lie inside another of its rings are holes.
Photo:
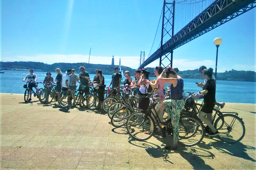
[[[172,57],[173,57],[173,50],[166,54],[163,54],[163,39],[169,40],[173,38],[174,35],[174,12],[175,12],[175,1],[172,3],[168,3],[164,0],[163,6],[163,21],[162,21],[162,34],[161,34],[161,46],[160,46],[160,62],[159,65],[163,65],[164,68],[168,67],[169,65],[172,67]],[[169,59],[169,54],[171,54],[171,59]],[[163,59],[162,59],[163,56]],[[170,64],[165,66],[163,61],[170,61]]]

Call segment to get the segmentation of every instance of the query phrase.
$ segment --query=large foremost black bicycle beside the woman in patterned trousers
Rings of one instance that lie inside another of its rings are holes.
[[[161,122],[157,110],[161,99],[158,95],[150,97],[148,110],[135,112],[127,120],[126,128],[132,138],[144,141],[153,136],[156,125],[163,131],[163,137],[173,135],[171,122],[165,124]],[[162,125],[161,125],[161,124]],[[193,116],[180,116],[179,120],[179,143],[184,146],[194,146],[202,141],[204,128],[201,120]]]

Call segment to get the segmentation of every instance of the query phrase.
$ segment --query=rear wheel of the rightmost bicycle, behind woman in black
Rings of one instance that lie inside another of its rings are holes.
[[[237,143],[243,139],[245,126],[238,116],[232,114],[222,115],[215,121],[214,127],[219,127],[218,124],[222,124],[222,122],[223,126],[218,129],[221,140],[227,143]]]

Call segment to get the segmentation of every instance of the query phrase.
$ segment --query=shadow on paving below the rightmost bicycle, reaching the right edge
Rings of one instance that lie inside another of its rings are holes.
[[[234,143],[234,144],[228,144],[221,140],[217,140],[215,138],[212,138],[213,141],[210,141],[208,144],[205,142],[201,142],[198,144],[200,148],[204,149],[217,149],[220,153],[229,154],[231,156],[240,157],[246,160],[250,160],[252,162],[256,162],[255,159],[250,157],[247,153],[247,151],[253,151],[255,153],[256,147],[245,145],[241,142]]]

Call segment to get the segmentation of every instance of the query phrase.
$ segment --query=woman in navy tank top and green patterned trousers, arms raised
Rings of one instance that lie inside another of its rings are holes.
[[[164,73],[166,78],[163,77]],[[163,102],[165,112],[168,114],[168,122],[172,122],[173,127],[173,145],[166,146],[166,149],[177,149],[177,143],[179,139],[179,120],[180,111],[183,109],[185,103],[183,100],[183,79],[177,75],[172,67],[168,67],[160,74],[159,81],[164,83],[172,83],[170,91],[170,99]],[[170,111],[170,108],[172,110]]]

